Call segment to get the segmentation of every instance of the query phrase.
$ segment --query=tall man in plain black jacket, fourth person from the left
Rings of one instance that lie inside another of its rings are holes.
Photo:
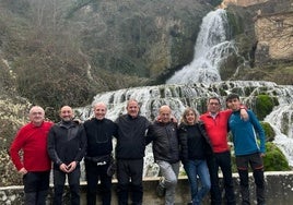
[[[146,118],[139,116],[139,104],[134,99],[127,102],[127,114],[116,120],[118,126],[116,159],[118,179],[118,203],[128,204],[131,180],[132,205],[142,204],[142,173],[145,149],[145,132],[150,125]]]

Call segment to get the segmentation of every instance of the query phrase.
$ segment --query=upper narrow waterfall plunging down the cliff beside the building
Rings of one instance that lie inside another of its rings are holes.
[[[190,64],[177,71],[166,84],[212,83],[221,81],[219,69],[231,53],[237,53],[233,40],[228,40],[226,11],[218,9],[208,13],[201,23]]]

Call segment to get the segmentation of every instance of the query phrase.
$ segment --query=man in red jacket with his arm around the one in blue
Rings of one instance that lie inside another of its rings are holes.
[[[212,205],[222,204],[222,193],[218,176],[219,168],[221,168],[223,173],[226,204],[236,204],[232,179],[231,153],[227,144],[227,121],[231,113],[232,110],[221,111],[220,98],[211,97],[208,99],[208,112],[200,116],[200,120],[204,123],[214,153],[213,157],[207,160],[211,177]],[[242,109],[242,118],[248,118],[246,109]]]

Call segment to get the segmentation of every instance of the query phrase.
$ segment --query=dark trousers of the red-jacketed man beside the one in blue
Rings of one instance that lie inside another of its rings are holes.
[[[235,193],[232,178],[232,165],[231,165],[231,153],[215,153],[213,157],[208,159],[208,166],[211,177],[211,204],[222,204],[222,191],[219,183],[219,168],[221,168],[224,180],[225,198],[227,205],[235,205]]]

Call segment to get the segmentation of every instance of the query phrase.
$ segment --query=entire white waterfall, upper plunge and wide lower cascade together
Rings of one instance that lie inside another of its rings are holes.
[[[279,106],[266,118],[266,121],[276,129],[278,134],[276,144],[280,146],[290,165],[293,166],[293,86],[281,86],[271,82],[221,82],[219,73],[221,62],[231,52],[237,50],[233,41],[227,41],[225,15],[224,10],[216,10],[203,19],[195,47],[195,60],[175,73],[167,81],[167,85],[102,93],[95,96],[92,105],[98,101],[107,104],[106,118],[115,120],[120,113],[126,112],[127,100],[133,98],[141,104],[141,114],[152,121],[157,116],[157,110],[162,105],[169,105],[173,114],[180,119],[187,106],[196,108],[200,113],[204,112],[207,98],[211,96],[220,96],[221,98],[230,93],[238,93],[244,104],[251,107],[257,95],[266,94],[279,101]],[[91,107],[75,109],[77,114],[82,120],[92,117]],[[157,173],[159,167],[153,164],[152,148],[149,145],[145,150],[143,176],[153,177]]]

